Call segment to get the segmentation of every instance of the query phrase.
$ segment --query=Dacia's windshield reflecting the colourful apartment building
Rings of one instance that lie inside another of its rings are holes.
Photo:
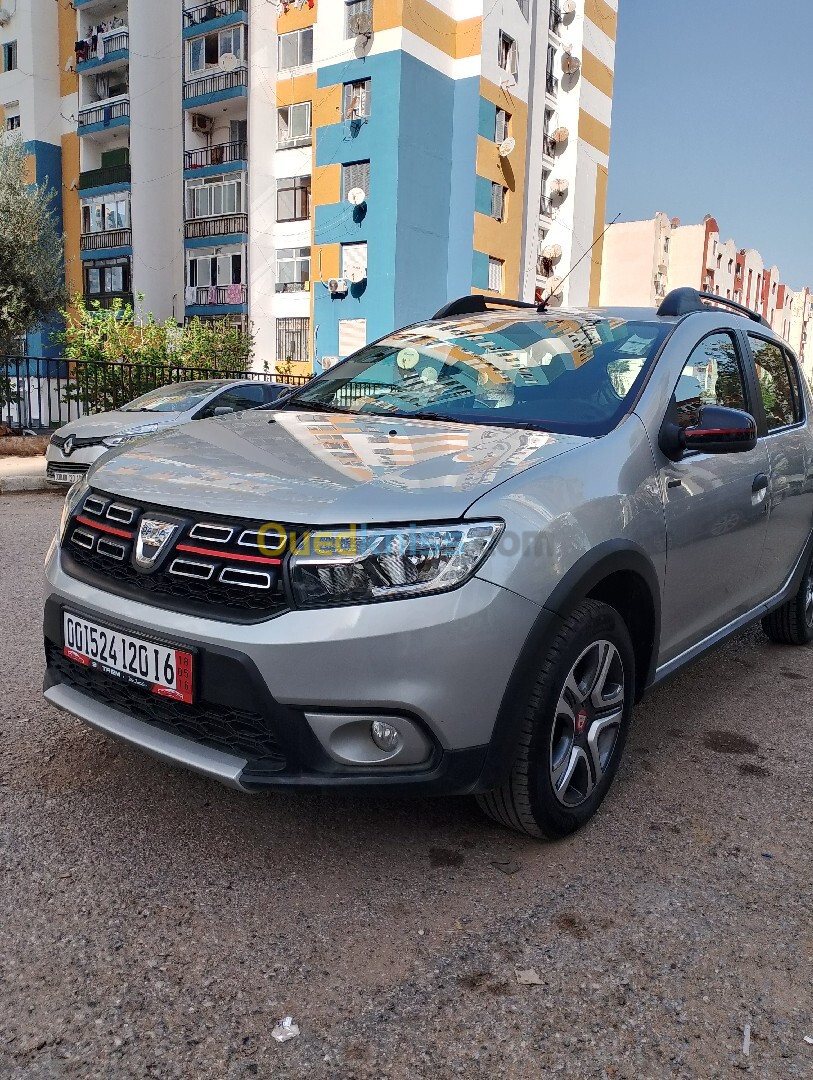
[[[582,313],[439,320],[360,350],[283,407],[606,434],[670,328]]]

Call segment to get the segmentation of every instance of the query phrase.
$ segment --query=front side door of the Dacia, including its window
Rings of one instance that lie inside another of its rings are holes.
[[[697,423],[703,405],[754,414],[750,361],[739,336],[717,330],[686,361],[675,387],[670,417]],[[666,515],[666,580],[662,606],[664,659],[756,606],[757,570],[768,524],[769,464],[765,441],[741,454],[685,454],[666,461],[661,484]]]

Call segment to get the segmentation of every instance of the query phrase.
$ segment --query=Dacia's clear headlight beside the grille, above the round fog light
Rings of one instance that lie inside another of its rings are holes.
[[[298,607],[394,600],[457,589],[483,563],[502,522],[307,534],[290,562]]]

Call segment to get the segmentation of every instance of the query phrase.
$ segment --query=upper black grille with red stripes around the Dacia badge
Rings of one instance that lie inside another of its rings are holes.
[[[134,558],[143,517],[170,518],[178,531],[155,569]],[[87,495],[66,530],[65,569],[91,584],[159,607],[230,621],[256,621],[288,610],[279,557],[261,548],[261,523],[185,519],[98,491]],[[273,557],[272,557],[273,556]]]

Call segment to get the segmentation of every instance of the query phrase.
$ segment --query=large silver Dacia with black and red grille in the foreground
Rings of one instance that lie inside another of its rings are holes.
[[[572,832],[649,687],[756,620],[813,637],[811,400],[720,303],[464,297],[112,451],[48,555],[46,699],[243,791],[473,793]]]

